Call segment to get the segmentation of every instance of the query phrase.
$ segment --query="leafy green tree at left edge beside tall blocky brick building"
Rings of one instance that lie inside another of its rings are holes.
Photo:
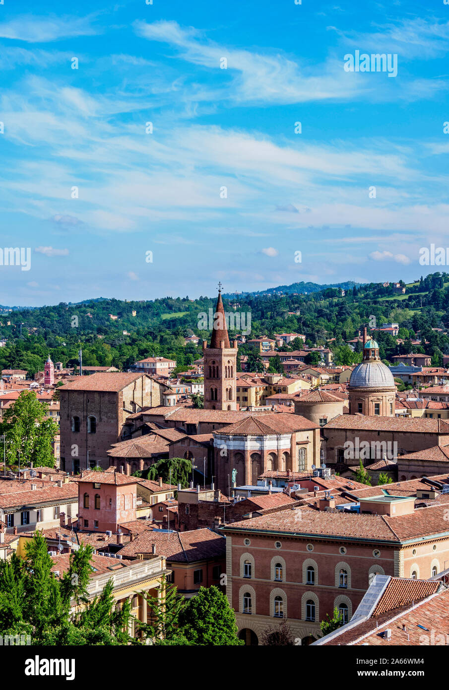
[[[6,462],[54,467],[52,442],[59,427],[47,418],[48,405],[37,400],[34,391],[22,391],[3,414],[0,433],[6,438]]]

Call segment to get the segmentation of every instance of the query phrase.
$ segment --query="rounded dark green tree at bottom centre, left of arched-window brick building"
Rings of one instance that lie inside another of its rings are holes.
[[[241,645],[237,637],[235,613],[226,595],[212,585],[200,587],[179,615],[179,625],[190,644]]]

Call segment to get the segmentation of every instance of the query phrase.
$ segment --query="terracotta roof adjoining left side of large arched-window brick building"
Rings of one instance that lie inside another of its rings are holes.
[[[135,558],[138,553],[156,553],[166,556],[168,562],[193,563],[206,558],[224,556],[226,540],[210,529],[194,529],[188,532],[145,531],[121,549],[123,557]]]

